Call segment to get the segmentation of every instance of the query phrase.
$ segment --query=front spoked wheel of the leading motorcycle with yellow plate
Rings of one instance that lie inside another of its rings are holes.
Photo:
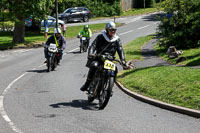
[[[104,109],[108,104],[108,101],[111,97],[112,88],[114,85],[114,77],[110,77],[107,80],[104,80],[102,83],[102,89],[99,94],[99,109]]]

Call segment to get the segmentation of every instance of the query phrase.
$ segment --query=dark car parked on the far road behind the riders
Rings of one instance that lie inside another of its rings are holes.
[[[65,23],[70,21],[88,22],[91,18],[91,11],[86,7],[67,8],[63,13],[58,15],[58,18],[64,20]]]

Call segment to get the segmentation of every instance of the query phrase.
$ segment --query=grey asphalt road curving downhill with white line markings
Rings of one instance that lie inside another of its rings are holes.
[[[123,44],[155,33],[158,25],[152,15],[116,21],[126,23],[117,30]],[[96,101],[88,104],[79,90],[87,76],[87,54],[80,54],[78,46],[78,39],[68,40],[61,66],[50,73],[43,64],[43,48],[0,51],[0,133],[200,131],[200,119],[140,102],[117,86],[104,110],[98,110]]]

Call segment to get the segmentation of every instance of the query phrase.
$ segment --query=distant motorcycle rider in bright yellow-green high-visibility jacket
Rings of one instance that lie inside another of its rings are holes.
[[[78,37],[80,37],[80,45],[82,44],[82,37],[87,39],[87,48],[90,44],[90,38],[92,37],[92,31],[89,28],[89,25],[84,25],[84,28],[79,32]]]

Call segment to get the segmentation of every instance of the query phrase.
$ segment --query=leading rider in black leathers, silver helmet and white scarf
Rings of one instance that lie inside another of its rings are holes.
[[[80,88],[81,91],[87,90],[95,73],[96,68],[92,67],[92,64],[98,64],[98,61],[92,61],[91,63],[89,63],[90,59],[94,56],[94,53],[108,53],[109,55],[114,56],[117,52],[122,62],[122,66],[127,66],[124,56],[124,50],[122,48],[122,43],[119,36],[116,35],[116,30],[117,28],[115,23],[108,22],[106,24],[105,30],[103,30],[102,33],[96,37],[96,39],[92,42],[91,46],[89,47],[88,62],[86,64],[86,66],[89,67],[89,72],[85,84]]]

